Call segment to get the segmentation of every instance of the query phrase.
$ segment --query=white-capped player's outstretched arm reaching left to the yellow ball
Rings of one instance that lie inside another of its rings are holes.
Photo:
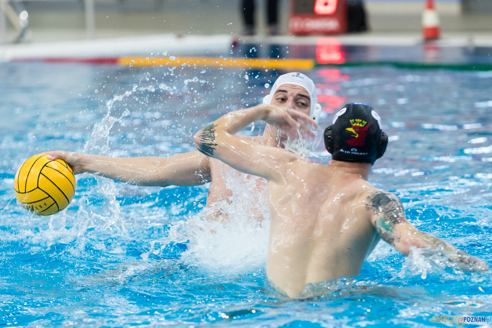
[[[47,151],[61,158],[75,174],[101,177],[142,186],[200,185],[211,180],[209,157],[195,150],[170,157],[106,157],[62,150]]]

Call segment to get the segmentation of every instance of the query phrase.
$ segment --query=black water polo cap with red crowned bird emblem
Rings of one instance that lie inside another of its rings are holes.
[[[338,161],[374,164],[388,145],[381,127],[381,118],[369,105],[345,105],[325,129],[326,150]]]

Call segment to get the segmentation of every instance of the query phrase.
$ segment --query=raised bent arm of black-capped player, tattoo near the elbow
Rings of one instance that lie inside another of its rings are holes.
[[[298,130],[313,135],[306,124],[316,126],[303,113],[262,104],[228,113],[215,120],[195,134],[195,146],[203,154],[217,158],[238,171],[280,182],[285,170],[283,164],[297,157],[285,149],[262,146],[234,135],[259,119],[276,125],[281,133],[292,137],[297,135]]]

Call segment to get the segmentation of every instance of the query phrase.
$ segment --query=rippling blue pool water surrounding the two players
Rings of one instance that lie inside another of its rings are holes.
[[[191,151],[195,131],[256,104],[280,73],[1,63],[0,326],[456,327],[431,319],[490,316],[490,272],[444,268],[430,250],[404,258],[384,242],[360,276],[316,286],[325,296],[283,298],[264,270],[268,219],[251,222],[235,202],[220,204],[229,224],[208,222],[208,185],[137,187],[84,174],[59,214],[16,204],[15,171],[35,153]],[[492,72],[306,73],[324,97],[321,127],[348,102],[382,117],[391,142],[369,181],[397,193],[419,229],[492,264]],[[321,145],[312,160],[328,162]],[[229,186],[246,193],[247,185]]]

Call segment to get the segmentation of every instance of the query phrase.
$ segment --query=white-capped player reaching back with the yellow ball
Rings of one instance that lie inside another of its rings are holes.
[[[276,96],[274,99],[278,90],[286,92],[279,92],[282,97]],[[281,75],[274,83],[271,94],[265,97],[265,103],[302,111],[306,115],[310,114],[315,120],[321,113],[321,106],[317,105],[314,83],[306,75],[296,72]],[[284,147],[272,132],[275,133],[274,129],[265,129],[261,136],[242,135],[241,138],[263,146]],[[266,180],[258,178],[255,183],[245,184],[246,175],[198,150],[167,157],[129,158],[79,154],[62,150],[48,153],[51,159],[61,158],[67,162],[73,168],[74,174],[92,173],[121,182],[161,187],[201,185],[211,182],[207,207],[212,208],[209,210],[214,219],[221,222],[228,220],[228,213],[236,206],[242,209],[249,207],[248,216],[261,221],[263,209],[268,206]],[[229,185],[242,186],[239,189],[241,197],[235,197],[238,191],[227,187],[225,176],[233,177],[227,181]],[[228,202],[224,203],[224,200]]]

